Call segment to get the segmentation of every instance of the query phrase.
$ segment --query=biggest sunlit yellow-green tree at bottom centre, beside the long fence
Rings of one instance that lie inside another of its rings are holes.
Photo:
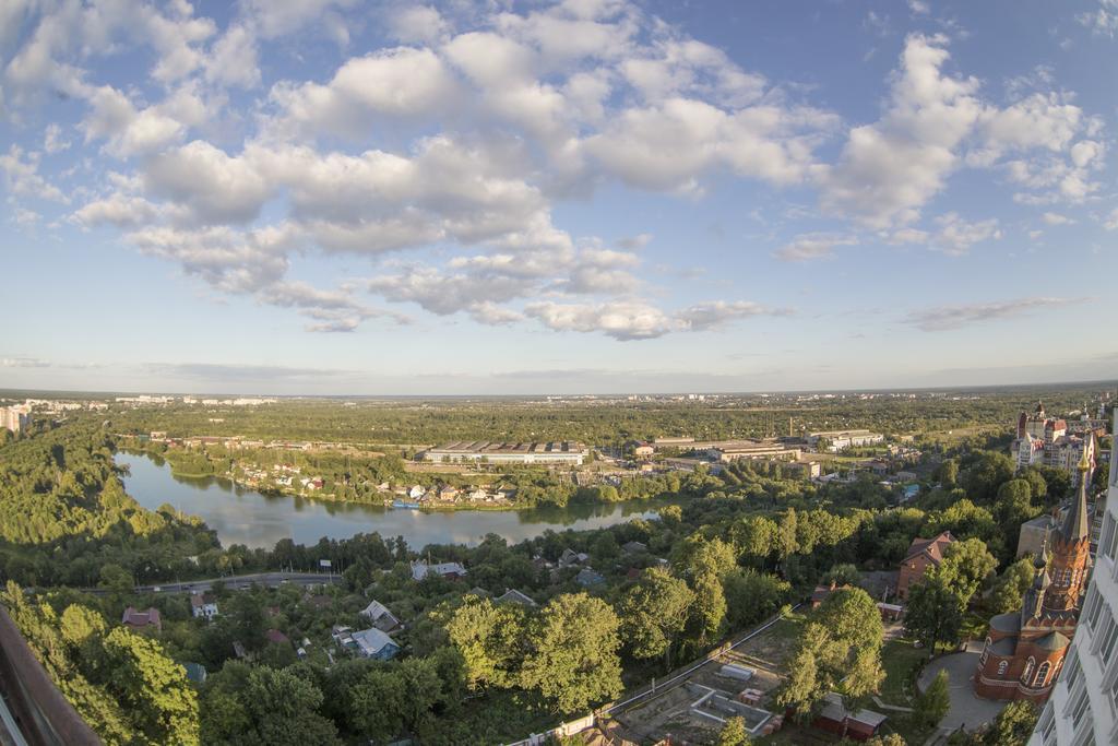
[[[617,657],[620,622],[600,598],[556,596],[529,625],[521,686],[537,690],[563,714],[622,691]]]

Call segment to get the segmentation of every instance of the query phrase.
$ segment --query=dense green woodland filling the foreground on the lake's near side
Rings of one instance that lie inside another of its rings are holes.
[[[110,432],[129,418],[138,429],[144,418],[143,427],[170,429],[176,414],[76,417],[0,446],[0,569],[13,583],[4,603],[111,744],[512,740],[703,654],[821,580],[892,568],[912,538],[950,530],[958,557],[915,589],[926,611],[912,615],[910,632],[936,650],[968,634],[968,624],[980,626],[984,614],[1020,605],[1031,577],[1012,561],[1016,529],[1071,490],[1055,470],[1014,474],[996,450],[1001,436],[974,435],[930,443],[921,491],[904,504],[869,475],[817,485],[738,463],[719,476],[654,483],[650,490],[683,498],[659,519],[549,531],[512,546],[490,536],[473,548],[408,547],[368,533],[249,550],[221,547],[197,519],[169,507],[144,510],[124,493]],[[266,410],[246,416],[267,422]],[[568,550],[586,559],[563,565]],[[409,563],[420,557],[461,563],[468,575],[416,580]],[[195,620],[183,595],[133,588],[320,559],[342,568],[343,583],[316,592],[219,585],[221,613],[211,623]],[[581,567],[600,582],[580,583]],[[80,591],[94,586],[95,594]],[[509,589],[534,605],[494,601]],[[808,617],[795,651],[797,660],[827,664],[795,667],[777,692],[797,712],[814,711],[830,689],[858,701],[881,683],[880,623],[858,631],[865,599],[853,592],[833,598]],[[334,660],[332,627],[357,629],[370,599],[402,624],[394,632],[400,655]],[[162,630],[117,625],[129,605],[159,608]],[[944,608],[955,616],[941,618]],[[304,654],[277,640],[302,642]],[[186,663],[205,665],[205,683],[186,681]],[[843,671],[858,676],[844,683]]]

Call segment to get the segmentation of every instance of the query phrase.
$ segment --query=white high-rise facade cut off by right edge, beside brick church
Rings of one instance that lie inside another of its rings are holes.
[[[1030,746],[1118,743],[1118,459],[1099,532],[1095,569],[1071,650],[1036,721]]]

